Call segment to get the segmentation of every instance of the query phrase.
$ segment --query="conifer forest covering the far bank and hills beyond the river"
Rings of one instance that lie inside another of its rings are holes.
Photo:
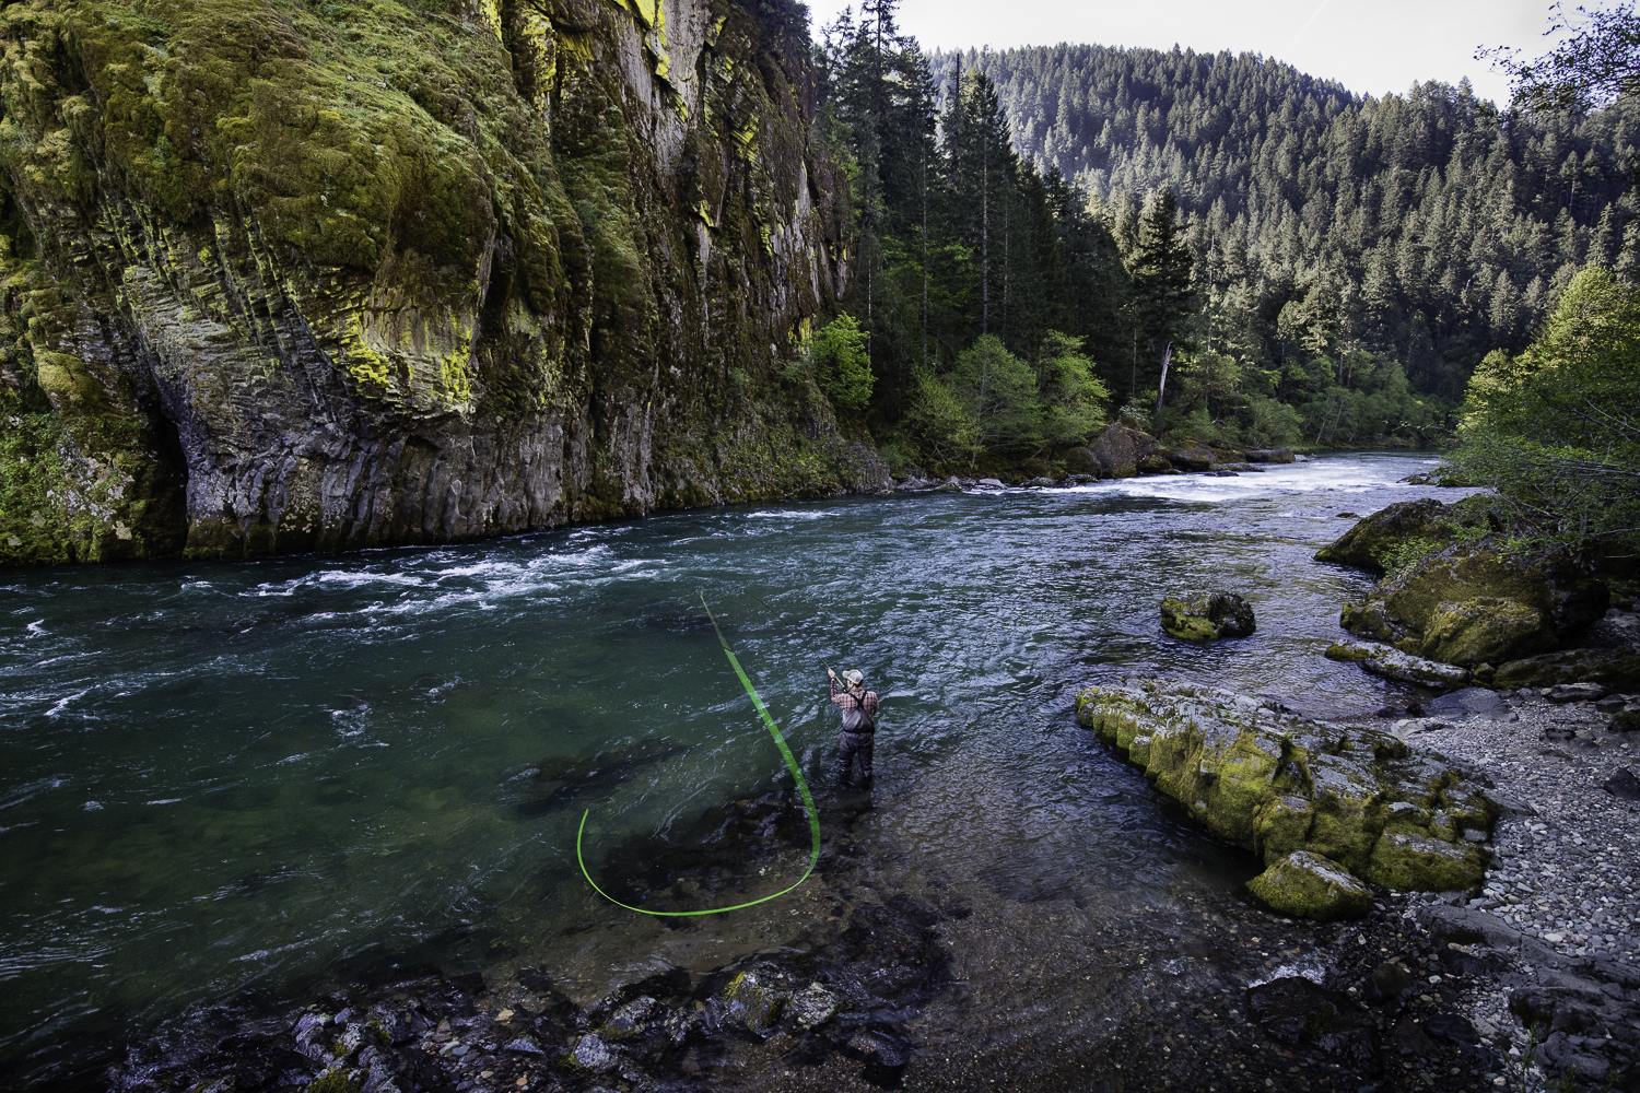
[[[1228,52],[927,52],[866,0],[813,44],[853,187],[809,344],[894,464],[1051,456],[1112,420],[1433,446],[1588,264],[1637,270],[1633,97],[1363,97]]]

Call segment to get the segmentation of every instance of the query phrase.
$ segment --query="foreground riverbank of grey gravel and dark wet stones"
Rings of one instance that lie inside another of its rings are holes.
[[[192,1049],[151,1042],[110,1085],[1535,1090],[1576,1067],[1578,1088],[1607,1088],[1640,1016],[1640,805],[1601,785],[1633,746],[1592,705],[1538,695],[1405,713],[1355,721],[1473,762],[1506,810],[1473,901],[1379,891],[1364,919],[1314,924],[1197,885],[1102,905],[956,891],[936,870],[886,869],[858,841],[871,801],[854,790],[822,800],[827,855],[802,900],[828,913],[753,957],[633,975],[592,1001],[549,968],[400,970]],[[790,795],[736,808],[712,819],[800,842]],[[1627,1073],[1609,1088],[1632,1088]]]

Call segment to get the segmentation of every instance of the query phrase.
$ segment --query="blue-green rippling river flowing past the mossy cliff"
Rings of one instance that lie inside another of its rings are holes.
[[[574,991],[779,941],[794,895],[671,929],[576,869],[769,788],[779,755],[704,593],[822,796],[825,665],[882,693],[861,837],[991,898],[1164,898],[1251,859],[1074,728],[1077,688],[1182,675],[1325,714],[1399,696],[1325,660],[1369,580],[1310,560],[1432,460],[727,508],[464,547],[0,577],[0,1062],[372,959],[536,962]],[[1260,629],[1161,636],[1163,593]],[[599,770],[602,773],[592,775]],[[792,857],[802,867],[805,855]],[[771,870],[774,891],[790,875]],[[749,895],[761,895],[751,891]],[[736,900],[745,898],[736,893]]]

